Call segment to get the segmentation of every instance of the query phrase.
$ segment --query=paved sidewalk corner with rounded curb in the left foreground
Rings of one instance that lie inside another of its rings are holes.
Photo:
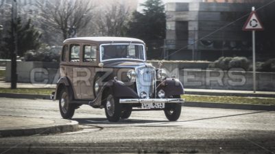
[[[67,131],[79,130],[76,121],[64,119],[0,116],[0,123],[0,138],[64,133]]]

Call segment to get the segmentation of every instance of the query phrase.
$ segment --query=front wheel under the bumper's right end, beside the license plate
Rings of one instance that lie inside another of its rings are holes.
[[[176,95],[173,98],[180,99],[180,95]],[[182,105],[180,103],[166,103],[165,104],[165,116],[169,121],[176,121],[180,118],[182,111]]]

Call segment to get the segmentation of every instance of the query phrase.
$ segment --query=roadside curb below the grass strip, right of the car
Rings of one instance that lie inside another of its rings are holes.
[[[251,105],[251,104],[231,104],[231,103],[211,103],[211,102],[194,102],[186,101],[183,103],[186,107],[208,107],[236,110],[265,110],[275,111],[275,105]]]

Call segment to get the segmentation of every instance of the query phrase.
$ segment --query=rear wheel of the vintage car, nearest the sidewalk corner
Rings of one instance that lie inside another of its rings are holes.
[[[62,118],[70,119],[75,113],[75,106],[70,103],[67,88],[63,88],[59,98],[59,110]]]

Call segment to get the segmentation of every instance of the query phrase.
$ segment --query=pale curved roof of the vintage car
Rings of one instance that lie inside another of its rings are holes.
[[[144,43],[143,40],[137,38],[124,38],[124,37],[79,37],[79,38],[69,38],[64,40],[65,42],[73,42],[73,41],[93,41],[93,42],[141,42]]]

